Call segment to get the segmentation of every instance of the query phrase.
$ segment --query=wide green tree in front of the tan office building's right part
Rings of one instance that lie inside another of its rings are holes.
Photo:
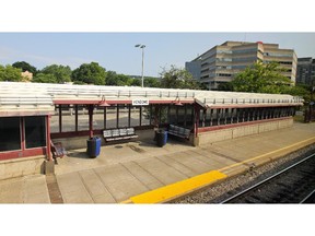
[[[282,69],[276,62],[256,62],[236,74],[231,82],[235,92],[280,94],[292,84],[291,80],[281,74]]]

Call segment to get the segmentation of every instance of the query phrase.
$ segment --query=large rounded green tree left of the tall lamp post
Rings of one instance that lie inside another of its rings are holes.
[[[106,70],[97,62],[83,63],[72,71],[72,81],[80,81],[85,84],[105,85]]]

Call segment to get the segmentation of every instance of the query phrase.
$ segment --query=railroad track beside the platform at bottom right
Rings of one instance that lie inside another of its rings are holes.
[[[315,203],[315,154],[220,203]]]

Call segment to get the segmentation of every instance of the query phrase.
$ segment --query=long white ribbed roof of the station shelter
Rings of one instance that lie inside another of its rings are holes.
[[[203,108],[242,106],[301,106],[291,95],[218,91],[0,82],[0,116],[50,114],[55,104],[197,103]]]

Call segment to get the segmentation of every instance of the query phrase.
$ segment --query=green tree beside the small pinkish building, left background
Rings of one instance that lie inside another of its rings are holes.
[[[56,78],[57,83],[65,83],[65,82],[71,82],[71,69],[69,66],[58,66],[58,64],[51,64],[48,67],[45,67],[40,73],[44,74],[52,74]]]

